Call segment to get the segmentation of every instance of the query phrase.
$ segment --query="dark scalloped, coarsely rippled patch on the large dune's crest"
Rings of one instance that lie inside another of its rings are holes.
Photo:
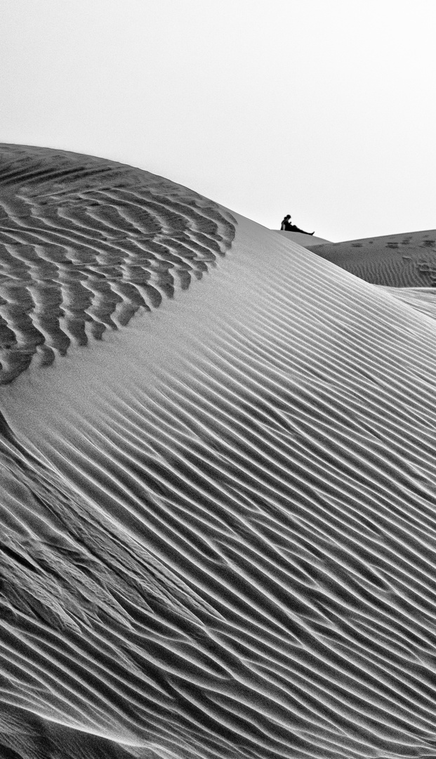
[[[0,384],[125,326],[215,266],[219,206],[140,169],[0,146]]]

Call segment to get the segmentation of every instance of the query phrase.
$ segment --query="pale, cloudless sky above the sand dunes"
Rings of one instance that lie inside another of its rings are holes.
[[[0,142],[331,241],[436,228],[435,28],[435,0],[0,0]]]

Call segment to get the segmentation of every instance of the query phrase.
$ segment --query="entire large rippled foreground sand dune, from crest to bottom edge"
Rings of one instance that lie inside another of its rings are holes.
[[[434,759],[434,319],[1,152],[0,756]]]

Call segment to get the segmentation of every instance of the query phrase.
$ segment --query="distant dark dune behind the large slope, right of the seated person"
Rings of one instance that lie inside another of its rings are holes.
[[[306,247],[373,285],[436,287],[436,229]]]

